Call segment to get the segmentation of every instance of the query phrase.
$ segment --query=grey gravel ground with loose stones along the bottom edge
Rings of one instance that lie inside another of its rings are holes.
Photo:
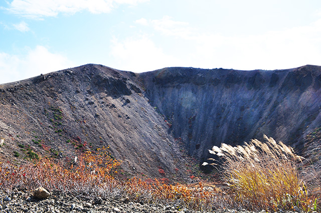
[[[155,213],[250,213],[251,211],[216,209],[213,211],[195,211],[181,206],[179,203],[161,204],[161,203],[140,203],[130,201],[119,195],[110,195],[108,197],[90,197],[83,194],[70,194],[63,192],[54,192],[46,199],[37,199],[31,193],[14,190],[0,191],[0,212],[155,212]],[[292,211],[279,211],[280,213],[291,213]],[[261,211],[265,213],[265,211]],[[312,212],[313,213],[313,212]],[[316,213],[316,212],[314,212]]]

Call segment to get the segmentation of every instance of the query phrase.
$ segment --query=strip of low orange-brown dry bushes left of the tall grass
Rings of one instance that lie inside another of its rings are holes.
[[[67,163],[48,158],[19,166],[0,162],[0,189],[32,190],[43,186],[50,191],[127,196],[139,202],[174,203],[179,208],[197,210],[222,208],[228,202],[222,191],[205,190],[202,183],[187,187],[165,184],[157,179],[152,183],[137,178],[118,180],[113,174],[119,165],[106,148],[97,149],[95,153],[87,151]]]

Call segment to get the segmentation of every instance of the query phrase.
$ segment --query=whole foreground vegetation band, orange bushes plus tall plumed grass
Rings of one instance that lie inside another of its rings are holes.
[[[221,157],[223,188],[171,185],[160,180],[117,178],[120,161],[108,147],[85,151],[77,157],[58,162],[53,158],[31,158],[33,163],[13,166],[0,163],[0,188],[32,190],[43,186],[51,191],[86,193],[92,196],[120,195],[139,202],[176,203],[178,208],[213,210],[246,208],[250,210],[320,210],[320,196],[300,179],[297,163],[301,158],[290,147],[265,137],[244,146],[222,144],[212,153]],[[164,178],[166,179],[166,178]]]

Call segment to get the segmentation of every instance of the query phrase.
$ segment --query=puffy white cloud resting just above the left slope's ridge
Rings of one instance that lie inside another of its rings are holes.
[[[0,84],[31,78],[68,67],[73,63],[43,46],[29,50],[25,56],[0,53]]]

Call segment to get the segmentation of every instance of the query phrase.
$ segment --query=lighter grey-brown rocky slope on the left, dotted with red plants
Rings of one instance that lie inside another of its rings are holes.
[[[163,169],[165,177],[187,177],[179,145],[130,78],[135,74],[85,65],[0,85],[1,157],[18,153],[19,162],[33,151],[72,161],[109,146],[124,175],[159,178]]]

